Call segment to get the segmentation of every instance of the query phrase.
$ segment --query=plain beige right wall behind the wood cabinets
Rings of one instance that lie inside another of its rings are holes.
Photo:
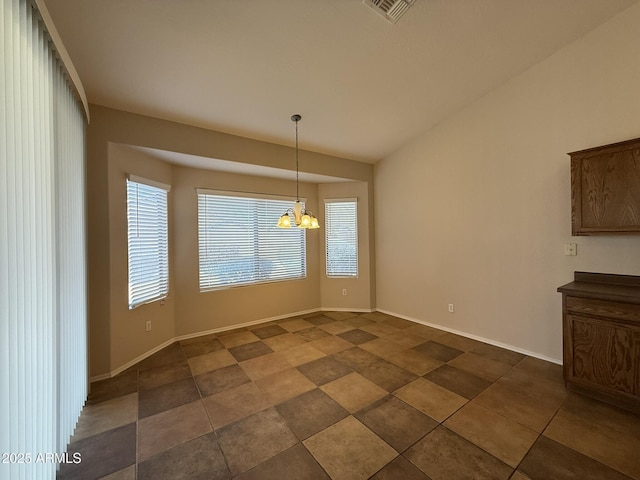
[[[556,288],[640,274],[640,237],[571,237],[566,155],[640,137],[639,24],[636,5],[376,165],[379,309],[559,360]]]

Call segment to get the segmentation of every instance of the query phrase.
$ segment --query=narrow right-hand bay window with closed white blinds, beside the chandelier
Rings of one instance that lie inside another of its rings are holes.
[[[327,277],[358,276],[358,202],[325,200]]]

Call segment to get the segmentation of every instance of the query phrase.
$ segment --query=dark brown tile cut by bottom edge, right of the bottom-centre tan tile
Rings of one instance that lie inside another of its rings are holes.
[[[444,427],[433,430],[404,456],[433,479],[506,480],[513,472],[508,465]]]

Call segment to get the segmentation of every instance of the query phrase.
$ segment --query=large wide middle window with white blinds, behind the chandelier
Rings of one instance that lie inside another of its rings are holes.
[[[305,230],[276,227],[292,206],[290,200],[198,190],[200,291],[305,278]]]

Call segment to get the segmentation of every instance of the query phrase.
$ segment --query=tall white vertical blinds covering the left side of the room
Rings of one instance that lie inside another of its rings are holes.
[[[65,451],[87,395],[84,117],[31,5],[0,8],[2,479],[55,478],[38,455]]]

